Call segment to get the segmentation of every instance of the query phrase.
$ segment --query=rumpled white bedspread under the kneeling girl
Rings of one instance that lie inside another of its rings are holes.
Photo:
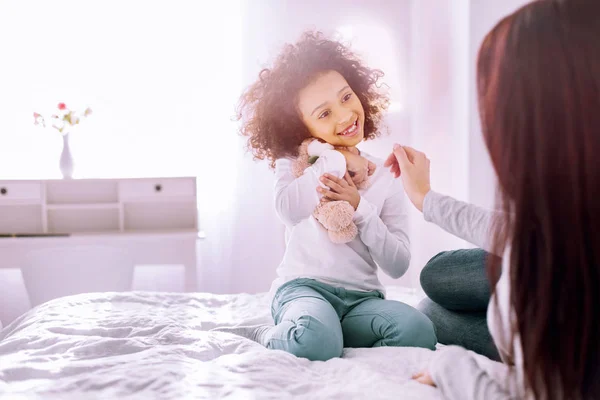
[[[388,298],[414,303],[401,289]],[[410,380],[429,350],[345,349],[309,362],[216,326],[270,322],[265,295],[57,299],[0,333],[1,399],[438,399]]]

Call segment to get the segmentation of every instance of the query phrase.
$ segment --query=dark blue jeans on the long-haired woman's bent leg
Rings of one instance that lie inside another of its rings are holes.
[[[500,360],[487,326],[490,284],[488,254],[480,249],[447,251],[433,257],[421,271],[429,298],[417,307],[436,328],[440,343],[454,344]]]

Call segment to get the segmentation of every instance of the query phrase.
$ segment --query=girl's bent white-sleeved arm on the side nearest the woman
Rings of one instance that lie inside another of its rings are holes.
[[[400,278],[410,263],[410,241],[405,231],[408,225],[405,194],[399,181],[385,200],[378,215],[377,207],[361,197],[354,214],[360,239],[369,248],[373,261],[387,275]]]

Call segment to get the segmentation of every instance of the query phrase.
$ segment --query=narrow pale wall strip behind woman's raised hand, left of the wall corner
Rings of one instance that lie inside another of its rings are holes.
[[[431,160],[432,188],[467,198],[468,131],[466,54],[468,3],[454,0],[414,0],[411,4],[410,121],[408,144]],[[413,259],[407,273],[419,286],[423,266],[435,254],[466,244],[423,220],[412,211]]]

